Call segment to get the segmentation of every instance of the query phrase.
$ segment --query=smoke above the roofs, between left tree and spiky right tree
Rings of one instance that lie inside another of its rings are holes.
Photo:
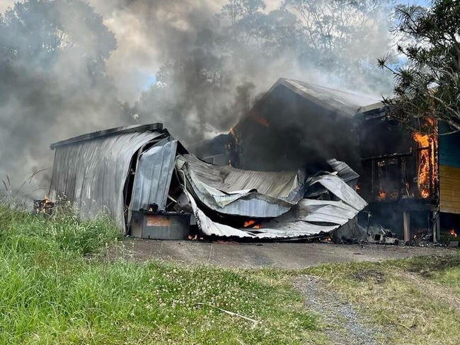
[[[91,1],[117,36],[108,71],[119,97],[134,101],[161,68],[135,112],[194,144],[228,131],[248,110],[240,100],[253,103],[280,77],[374,98],[391,89],[391,76],[376,66],[389,49],[389,1],[266,1],[255,8],[261,2]],[[319,18],[309,16],[314,11]],[[328,23],[333,13],[340,24]],[[325,23],[330,37],[318,44]]]

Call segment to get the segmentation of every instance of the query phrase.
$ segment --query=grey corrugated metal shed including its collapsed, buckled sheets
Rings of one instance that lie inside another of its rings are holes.
[[[84,134],[51,148],[51,199],[75,204],[85,218],[108,213],[123,233],[142,238],[185,238],[191,216],[208,236],[324,238],[367,205],[350,187],[357,173],[338,160],[314,176],[212,165],[161,124]]]

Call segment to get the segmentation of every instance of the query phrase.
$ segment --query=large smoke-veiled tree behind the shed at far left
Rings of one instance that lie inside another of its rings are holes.
[[[86,1],[18,1],[0,16],[0,179],[49,167],[53,141],[128,122],[105,74],[115,47]]]

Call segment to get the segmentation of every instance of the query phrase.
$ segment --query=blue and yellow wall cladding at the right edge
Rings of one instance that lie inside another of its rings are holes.
[[[460,133],[439,124],[439,208],[460,214]]]

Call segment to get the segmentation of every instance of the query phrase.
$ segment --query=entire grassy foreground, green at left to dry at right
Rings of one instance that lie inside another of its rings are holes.
[[[106,259],[117,236],[103,217],[0,204],[0,344],[460,344],[456,252],[219,269]],[[299,288],[305,279],[314,288]],[[358,317],[335,312],[343,305]],[[349,334],[354,323],[375,341]]]

